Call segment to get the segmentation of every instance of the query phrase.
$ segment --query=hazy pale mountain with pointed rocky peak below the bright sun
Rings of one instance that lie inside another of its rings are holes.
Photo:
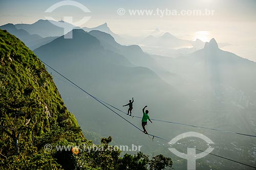
[[[237,90],[247,91],[247,94],[256,90],[256,63],[220,50],[214,38],[206,42],[203,49],[194,53],[176,59],[160,60],[158,61],[165,65],[165,68],[190,80],[209,84],[212,81],[219,82]]]

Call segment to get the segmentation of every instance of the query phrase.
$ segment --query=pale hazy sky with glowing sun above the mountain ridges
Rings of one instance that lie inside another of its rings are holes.
[[[200,38],[209,40],[215,37],[218,42],[228,42],[237,46],[229,46],[227,50],[236,51],[256,61],[254,51],[256,50],[256,1],[255,0],[164,0],[164,1],[77,1],[86,6],[91,12],[84,13],[76,7],[66,6],[54,10],[52,13],[45,13],[50,6],[60,2],[56,0],[45,1],[18,1],[0,0],[0,25],[6,23],[33,23],[38,19],[45,19],[45,16],[52,16],[60,20],[63,16],[72,16],[74,21],[80,20],[83,16],[91,16],[91,19],[82,25],[83,27],[95,27],[104,22],[108,23],[111,30],[117,34],[129,34],[133,36],[146,35],[155,28],[168,31],[179,38],[191,39]],[[119,8],[125,10],[120,16],[117,13]],[[212,16],[131,16],[129,10],[214,10]],[[238,45],[240,45],[238,47]],[[244,46],[244,47],[243,47]],[[250,47],[248,47],[250,46]],[[241,50],[238,50],[241,48]],[[247,49],[246,49],[247,48]],[[248,52],[248,54],[247,54]]]

